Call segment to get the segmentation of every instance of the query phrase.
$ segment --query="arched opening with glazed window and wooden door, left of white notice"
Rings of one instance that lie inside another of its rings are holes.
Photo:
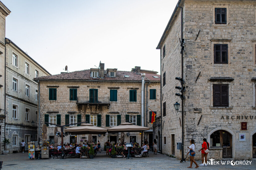
[[[222,157],[232,158],[232,135],[226,130],[217,130],[210,136],[212,148],[223,148]]]

